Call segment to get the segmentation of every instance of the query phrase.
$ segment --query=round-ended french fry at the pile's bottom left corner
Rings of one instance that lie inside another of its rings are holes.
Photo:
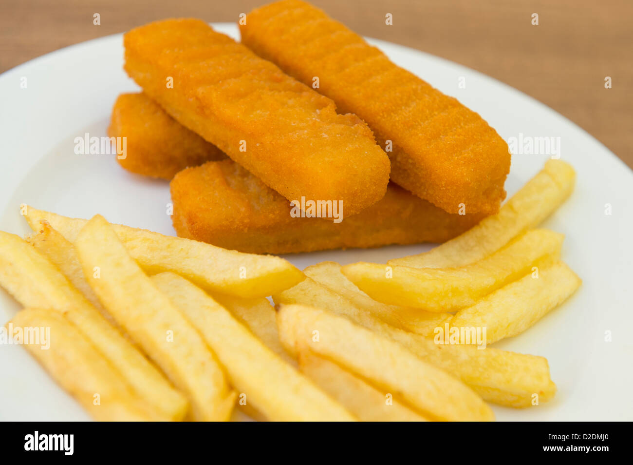
[[[50,347],[23,341],[46,371],[97,421],[151,421],[156,416],[82,332],[57,310],[20,310],[11,328],[49,328]],[[98,398],[99,402],[95,402]]]

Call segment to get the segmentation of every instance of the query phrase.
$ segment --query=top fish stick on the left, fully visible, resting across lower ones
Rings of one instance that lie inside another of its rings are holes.
[[[389,157],[356,115],[201,20],[131,30],[125,70],[180,124],[289,200],[342,201],[353,215],[384,196]]]

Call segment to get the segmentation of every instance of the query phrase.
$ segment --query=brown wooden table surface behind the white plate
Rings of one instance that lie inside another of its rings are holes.
[[[2,0],[0,72],[173,16],[233,22],[266,0]],[[633,167],[632,0],[313,0],[360,34],[456,61],[542,101]],[[101,25],[93,25],[93,15]],[[393,25],[385,26],[385,13]],[[532,13],[539,15],[534,26]],[[612,88],[605,89],[605,77]]]

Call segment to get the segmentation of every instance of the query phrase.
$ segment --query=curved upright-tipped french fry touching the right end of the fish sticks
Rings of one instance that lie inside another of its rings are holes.
[[[475,263],[505,246],[527,229],[537,227],[573,191],[576,174],[562,160],[545,167],[508,200],[496,215],[429,252],[389,260],[389,265],[449,268]]]

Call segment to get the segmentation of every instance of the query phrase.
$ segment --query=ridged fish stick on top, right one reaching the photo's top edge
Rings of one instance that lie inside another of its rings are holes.
[[[450,213],[496,213],[508,144],[477,113],[392,63],[323,11],[299,0],[246,15],[242,43],[352,111],[391,158],[391,179]],[[392,148],[392,151],[389,151]]]

